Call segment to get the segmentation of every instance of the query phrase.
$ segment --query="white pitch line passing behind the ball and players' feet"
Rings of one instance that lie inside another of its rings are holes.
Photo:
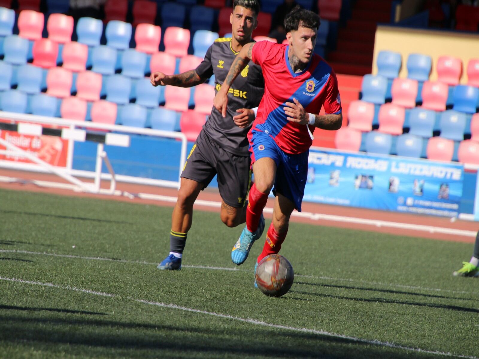
[[[31,252],[31,251],[27,251],[27,250],[16,250],[16,249],[0,249],[0,253],[33,254],[33,255],[62,257],[62,258],[104,260],[104,261],[110,261],[110,262],[131,263],[131,264],[147,264],[147,265],[152,265],[152,266],[157,265],[157,263],[149,263],[149,262],[141,261],[141,260],[127,260],[127,259],[115,259],[115,258],[103,258],[103,257],[82,257],[82,256],[69,255],[69,254]],[[183,265],[183,267],[194,268],[194,269],[228,270],[228,271],[232,271],[232,272],[252,272],[252,270],[249,270],[249,269],[238,269],[238,268],[227,268],[227,267],[191,266],[191,265],[190,266],[189,265]],[[387,287],[391,287],[391,288],[417,289],[417,290],[432,291],[432,292],[446,292],[446,293],[456,293],[456,294],[479,295],[479,292],[454,291],[454,290],[449,290],[449,289],[427,288],[427,287],[412,286],[412,285],[405,285],[405,284],[382,283],[382,282],[367,281],[367,280],[361,280],[361,279],[333,278],[333,277],[326,277],[326,276],[313,276],[313,275],[302,275],[302,274],[295,274],[295,277],[311,278],[311,279],[324,279],[324,280],[337,280],[337,281],[348,281],[348,282],[352,282],[352,283],[359,282],[359,283],[371,284],[371,285],[382,285],[382,286],[387,286]]]

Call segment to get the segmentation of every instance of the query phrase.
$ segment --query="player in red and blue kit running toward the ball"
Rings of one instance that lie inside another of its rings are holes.
[[[259,261],[278,253],[288,231],[289,217],[301,201],[308,175],[308,153],[315,127],[337,130],[342,124],[336,75],[313,53],[319,16],[293,9],[285,18],[287,45],[250,43],[241,49],[217,92],[214,106],[226,115],[228,89],[251,60],[261,66],[265,89],[248,134],[254,185],[246,212],[246,227],[231,252],[234,263],[248,257],[268,194],[275,196],[273,221]],[[325,115],[319,115],[324,106]],[[256,269],[256,267],[255,267]]]

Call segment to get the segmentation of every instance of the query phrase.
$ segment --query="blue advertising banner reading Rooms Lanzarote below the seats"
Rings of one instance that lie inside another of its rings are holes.
[[[304,201],[456,217],[464,168],[396,156],[310,149]]]

